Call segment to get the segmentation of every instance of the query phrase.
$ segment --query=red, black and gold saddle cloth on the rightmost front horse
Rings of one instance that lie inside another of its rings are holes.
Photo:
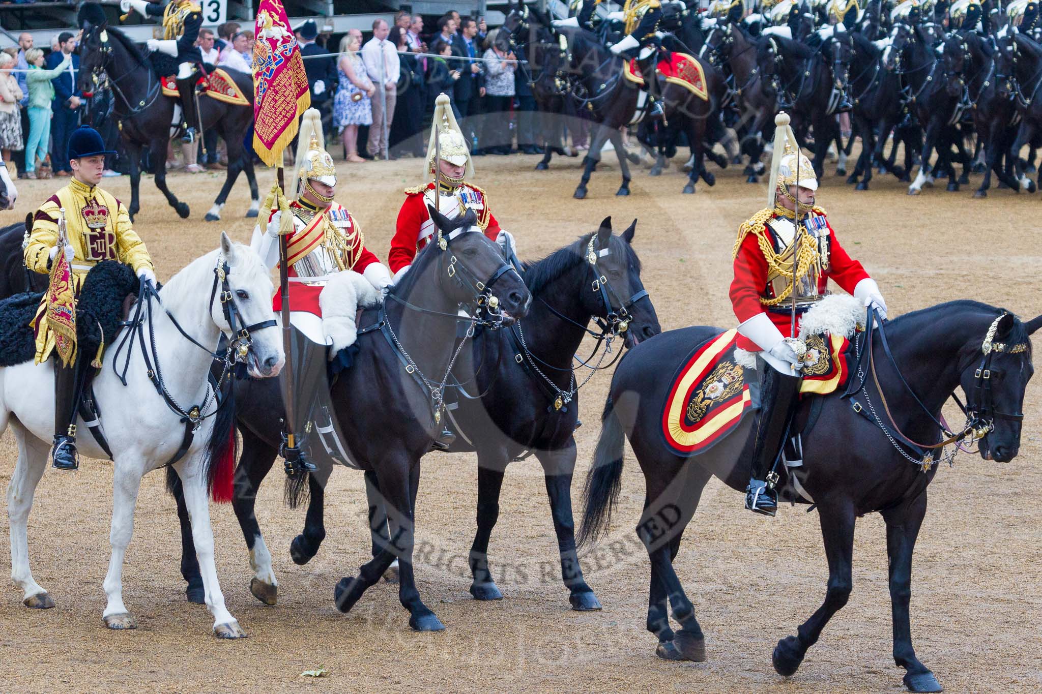
[[[753,409],[748,379],[756,371],[738,363],[737,330],[728,330],[695,348],[673,377],[662,413],[666,445],[679,456],[696,456],[733,432]],[[807,340],[800,393],[825,395],[846,385],[842,335],[812,335]]]

